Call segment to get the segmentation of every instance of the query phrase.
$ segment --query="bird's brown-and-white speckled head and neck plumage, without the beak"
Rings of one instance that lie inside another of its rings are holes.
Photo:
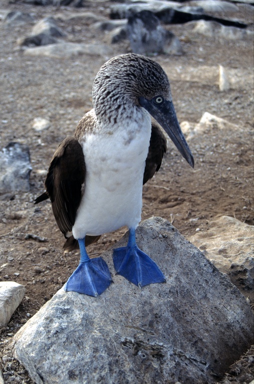
[[[100,119],[127,113],[140,106],[139,97],[148,99],[162,95],[171,100],[170,85],[162,67],[148,57],[127,53],[107,61],[97,73],[93,84],[95,113]]]

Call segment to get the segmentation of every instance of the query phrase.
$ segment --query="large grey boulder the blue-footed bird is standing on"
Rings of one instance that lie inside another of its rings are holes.
[[[114,283],[98,299],[62,288],[16,334],[37,384],[212,383],[249,347],[249,304],[199,249],[160,217],[140,224],[137,243],[167,282],[141,290],[103,253]]]

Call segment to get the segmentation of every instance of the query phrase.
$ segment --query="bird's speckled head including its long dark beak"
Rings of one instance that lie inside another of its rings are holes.
[[[168,77],[156,61],[136,53],[113,57],[95,77],[93,102],[99,118],[105,114],[105,108],[115,120],[128,110],[131,113],[133,105],[146,109],[194,167],[192,153],[176,117]]]

